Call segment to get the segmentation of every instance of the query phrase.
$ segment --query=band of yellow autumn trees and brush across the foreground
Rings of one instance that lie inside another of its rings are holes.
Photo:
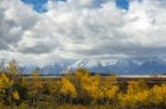
[[[0,109],[166,109],[166,84],[117,83],[112,74],[103,80],[85,68],[59,79],[43,79],[38,69],[31,75],[23,76],[15,61],[0,70]]]

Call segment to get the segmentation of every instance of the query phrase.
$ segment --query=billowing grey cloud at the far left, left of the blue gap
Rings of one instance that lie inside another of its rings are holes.
[[[0,48],[10,50],[35,25],[37,18],[30,7],[18,0],[0,1]]]

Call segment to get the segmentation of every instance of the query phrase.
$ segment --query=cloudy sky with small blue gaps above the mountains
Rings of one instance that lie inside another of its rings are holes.
[[[0,0],[0,59],[43,65],[163,56],[165,13],[165,0]]]

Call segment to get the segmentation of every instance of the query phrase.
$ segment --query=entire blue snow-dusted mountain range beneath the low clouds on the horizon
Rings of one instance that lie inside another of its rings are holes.
[[[80,59],[71,63],[61,62],[49,64],[40,68],[41,74],[55,75],[62,74],[65,70],[74,70],[76,68],[87,68],[92,73],[115,73],[118,75],[144,75],[144,74],[166,74],[166,59],[154,57],[142,63],[136,63],[132,59],[121,61],[97,61],[97,59]],[[24,67],[24,73],[29,74],[34,66]]]

